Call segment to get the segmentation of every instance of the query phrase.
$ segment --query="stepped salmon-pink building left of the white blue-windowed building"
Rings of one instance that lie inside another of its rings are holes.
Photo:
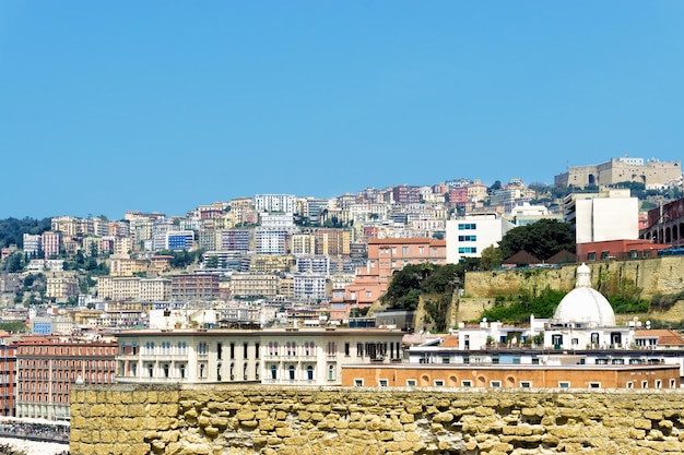
[[[345,288],[343,298],[333,294],[330,303],[335,318],[349,318],[352,308],[370,307],[387,291],[389,279],[396,272],[409,264],[426,262],[447,263],[446,240],[370,239],[366,266],[356,270],[354,283]]]

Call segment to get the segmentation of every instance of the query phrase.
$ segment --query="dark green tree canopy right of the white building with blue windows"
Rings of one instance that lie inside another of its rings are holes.
[[[575,236],[567,223],[540,219],[506,232],[499,242],[499,249],[504,260],[524,250],[545,261],[563,250],[575,252]]]

